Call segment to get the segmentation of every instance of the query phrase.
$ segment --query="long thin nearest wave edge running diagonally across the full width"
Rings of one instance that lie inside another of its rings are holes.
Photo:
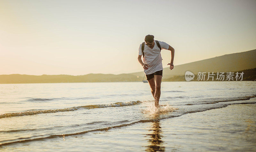
[[[163,119],[179,117],[179,116],[182,116],[184,114],[203,112],[203,111],[207,111],[207,110],[211,110],[211,109],[218,109],[218,108],[228,107],[228,105],[233,105],[233,104],[255,104],[255,103],[256,102],[220,104],[218,106],[205,107],[203,109],[195,109],[195,110],[191,110],[191,111],[185,111],[182,114],[178,114],[178,115],[170,115],[170,116],[167,116],[167,117],[155,118],[155,119],[139,120],[139,121],[134,121],[134,122],[127,123],[127,124],[121,124],[121,125],[116,125],[116,126],[109,126],[109,127],[106,127],[106,128],[98,128],[98,129],[86,130],[86,131],[77,132],[77,133],[62,134],[62,135],[50,135],[50,136],[39,137],[39,138],[37,138],[38,136],[32,136],[32,139],[31,139],[31,137],[18,138],[18,141],[0,143],[0,146],[9,145],[9,144],[13,144],[13,143],[30,142],[30,141],[37,141],[37,140],[42,140],[42,139],[57,138],[57,137],[64,138],[65,136],[85,134],[85,133],[94,132],[94,131],[107,131],[107,130],[112,129],[112,128],[121,128],[121,127],[125,127],[125,126],[130,126],[130,125],[133,125],[133,124],[136,124],[136,123],[155,122],[155,121],[159,121],[159,120],[163,120]],[[98,122],[98,121],[95,121],[95,122]],[[127,122],[127,121],[120,121],[120,122]],[[33,137],[35,137],[35,138],[33,138]],[[21,139],[24,139],[24,140],[21,140]],[[4,141],[1,141],[1,142],[4,142]]]

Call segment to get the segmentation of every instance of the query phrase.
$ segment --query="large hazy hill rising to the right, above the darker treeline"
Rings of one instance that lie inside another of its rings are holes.
[[[194,74],[198,72],[234,72],[256,67],[256,50],[226,54],[215,58],[204,59],[196,62],[175,66],[172,70],[164,68],[163,78],[174,75],[184,75],[186,71]],[[130,73],[143,76],[143,72]]]

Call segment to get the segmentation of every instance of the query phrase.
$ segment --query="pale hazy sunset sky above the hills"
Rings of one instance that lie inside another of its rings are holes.
[[[0,0],[0,74],[143,71],[147,34],[175,49],[174,68],[253,50],[256,1]],[[171,53],[161,54],[167,67]]]

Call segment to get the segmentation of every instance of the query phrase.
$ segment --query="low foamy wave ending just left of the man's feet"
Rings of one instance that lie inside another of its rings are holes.
[[[45,113],[74,111],[74,110],[83,109],[83,108],[92,109],[92,108],[104,108],[104,107],[132,106],[132,105],[136,105],[136,104],[140,104],[140,103],[141,103],[141,101],[129,101],[129,102],[116,102],[116,103],[103,104],[103,105],[86,105],[86,106],[70,107],[70,108],[63,108],[63,109],[29,110],[29,111],[19,112],[19,113],[0,114],[0,119],[1,118],[7,118],[7,117],[34,115],[34,114],[45,114]]]

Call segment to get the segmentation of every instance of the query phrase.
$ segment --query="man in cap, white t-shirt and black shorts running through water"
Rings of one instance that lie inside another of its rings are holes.
[[[170,69],[173,69],[173,59],[174,59],[174,49],[172,46],[165,42],[154,40],[153,35],[147,35],[145,37],[145,42],[143,42],[139,47],[138,61],[144,69],[144,73],[147,77],[149,86],[151,88],[151,93],[155,99],[155,106],[159,107],[159,99],[161,94],[161,81],[163,76],[163,65],[161,57],[161,49],[166,49],[171,51],[171,63]],[[158,43],[158,44],[157,44]],[[144,50],[143,50],[144,45]],[[143,51],[142,51],[143,50]],[[143,62],[141,56],[143,55]]]

